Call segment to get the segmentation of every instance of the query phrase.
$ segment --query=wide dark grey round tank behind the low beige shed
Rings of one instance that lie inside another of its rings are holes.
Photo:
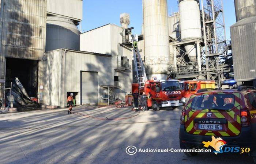
[[[59,48],[79,50],[79,35],[80,31],[71,19],[64,16],[47,16],[46,52]]]

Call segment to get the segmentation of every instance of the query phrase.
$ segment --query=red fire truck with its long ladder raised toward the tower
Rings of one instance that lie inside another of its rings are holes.
[[[134,37],[136,40],[136,37]],[[131,41],[133,36],[131,37]],[[147,100],[148,107],[154,110],[160,110],[163,107],[172,107],[173,109],[183,105],[181,102],[181,89],[178,80],[147,80],[146,71],[143,60],[140,56],[138,45],[131,42],[133,49],[134,70],[138,83],[132,84],[132,91],[139,91],[140,94],[144,91],[147,95],[151,94],[151,98]],[[131,104],[131,96],[126,96],[126,103]]]

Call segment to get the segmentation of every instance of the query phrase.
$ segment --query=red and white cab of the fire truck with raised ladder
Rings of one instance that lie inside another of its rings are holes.
[[[144,86],[144,92],[151,94],[151,103],[148,107],[154,110],[172,107],[173,109],[182,106],[182,94],[178,80],[148,80]],[[150,105],[151,104],[151,105]]]

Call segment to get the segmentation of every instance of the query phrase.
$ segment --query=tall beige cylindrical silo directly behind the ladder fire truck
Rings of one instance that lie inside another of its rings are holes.
[[[166,79],[169,34],[166,0],[143,0],[145,65],[148,79]]]

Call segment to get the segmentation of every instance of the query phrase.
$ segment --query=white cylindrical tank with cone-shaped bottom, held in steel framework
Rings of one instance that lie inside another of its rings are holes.
[[[202,38],[199,0],[179,0],[181,41]],[[191,62],[196,61],[194,43],[184,44]]]

